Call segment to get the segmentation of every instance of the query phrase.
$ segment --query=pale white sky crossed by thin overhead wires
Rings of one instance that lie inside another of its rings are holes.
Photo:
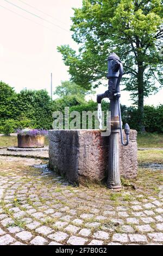
[[[75,50],[78,49],[69,29],[72,8],[81,7],[82,0],[22,0],[52,17],[29,7],[21,0],[8,1],[49,22],[0,0],[0,81],[10,84],[16,92],[23,88],[47,89],[50,94],[51,72],[53,90],[61,81],[70,78],[68,68],[57,52],[57,46],[69,44]],[[101,86],[97,93],[103,93],[105,89]],[[163,89],[146,99],[145,103],[162,103],[162,94]],[[96,96],[93,97],[95,98]],[[122,92],[121,102],[130,105],[129,93]]]

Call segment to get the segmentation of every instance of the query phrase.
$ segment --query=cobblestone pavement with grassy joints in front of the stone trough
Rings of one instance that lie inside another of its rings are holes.
[[[0,245],[163,244],[156,193],[72,187],[41,163],[0,156]]]

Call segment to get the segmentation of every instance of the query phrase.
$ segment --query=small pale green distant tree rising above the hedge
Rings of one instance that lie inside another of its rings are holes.
[[[89,95],[92,93],[93,93],[92,90],[88,91],[83,87],[78,86],[78,84],[74,82],[62,81],[61,86],[58,86],[56,88],[54,95],[58,95],[60,97],[76,95],[84,99],[86,95]]]

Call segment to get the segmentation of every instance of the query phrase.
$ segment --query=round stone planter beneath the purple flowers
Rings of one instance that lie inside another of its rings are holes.
[[[18,148],[43,148],[45,136],[43,135],[17,135]]]

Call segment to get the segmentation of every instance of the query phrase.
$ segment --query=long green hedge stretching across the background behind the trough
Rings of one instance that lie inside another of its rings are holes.
[[[65,107],[70,112],[96,111],[97,103],[86,102],[79,95],[63,96],[51,100],[46,90],[27,90],[16,93],[8,84],[0,82],[0,133],[9,134],[17,128],[52,129],[53,112],[64,113]],[[102,110],[106,113],[109,103],[102,102]],[[139,131],[137,120],[139,112],[135,107],[122,105],[123,124],[128,123],[131,129]],[[163,105],[145,106],[145,129],[147,132],[163,133]],[[81,127],[82,128],[82,127]]]

